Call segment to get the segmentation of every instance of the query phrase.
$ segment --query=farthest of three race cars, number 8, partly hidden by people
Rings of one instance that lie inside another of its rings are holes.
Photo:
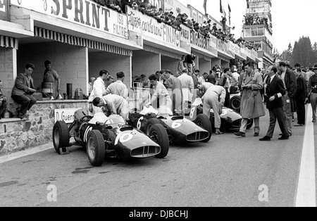
[[[185,105],[185,118],[188,120],[195,120],[197,115],[204,112],[201,99],[197,99],[192,104]],[[214,118],[215,115],[213,113],[213,109],[210,110],[210,121],[211,125],[214,128]],[[221,126],[220,130],[222,131],[230,131],[230,130],[239,130],[241,126],[242,116],[237,111],[232,110],[230,108],[223,107],[223,113],[220,115]],[[249,130],[254,123],[253,119],[248,120],[247,129]]]

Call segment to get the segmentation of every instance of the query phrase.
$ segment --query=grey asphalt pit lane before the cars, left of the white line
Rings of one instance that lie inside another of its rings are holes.
[[[268,114],[260,137],[252,127],[245,138],[213,135],[207,144],[170,146],[164,159],[106,159],[101,168],[80,147],[58,156],[48,144],[49,150],[0,164],[0,206],[295,206],[304,127],[278,141],[277,125],[273,140],[260,142],[267,129]],[[50,184],[57,202],[46,198]],[[259,201],[262,185],[268,202]]]

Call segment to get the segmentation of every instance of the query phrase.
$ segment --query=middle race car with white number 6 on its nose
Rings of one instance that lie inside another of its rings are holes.
[[[194,122],[184,116],[156,115],[155,113],[130,113],[129,125],[149,134],[151,127],[161,124],[168,134],[168,141],[172,144],[186,144],[191,142],[208,142],[212,136],[212,126],[204,114],[197,115]]]

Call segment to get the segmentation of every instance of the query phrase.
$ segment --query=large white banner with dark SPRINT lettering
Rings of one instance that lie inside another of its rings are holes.
[[[11,5],[128,39],[127,15],[91,0],[11,0]]]

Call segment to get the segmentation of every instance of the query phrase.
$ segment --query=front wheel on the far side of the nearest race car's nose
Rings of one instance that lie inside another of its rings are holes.
[[[161,153],[156,155],[156,158],[165,158],[170,149],[170,142],[165,127],[160,124],[152,125],[149,130],[149,137],[161,146]]]

